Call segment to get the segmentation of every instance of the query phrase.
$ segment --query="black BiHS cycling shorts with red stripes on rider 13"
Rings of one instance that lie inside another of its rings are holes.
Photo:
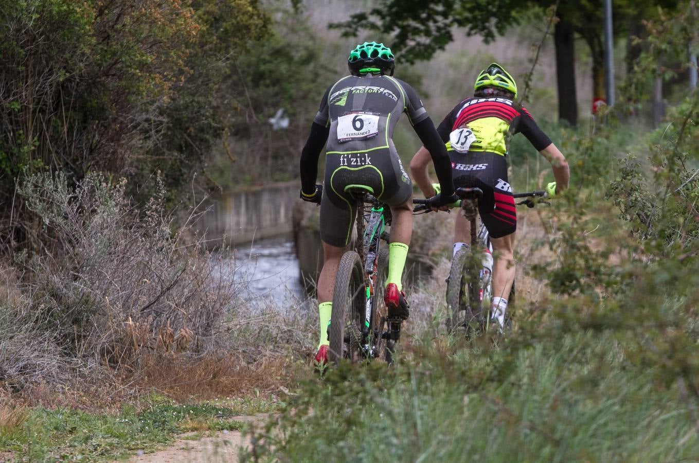
[[[449,151],[454,187],[478,187],[483,198],[478,213],[492,238],[502,238],[517,230],[517,210],[512,187],[507,182],[505,156],[494,152]]]

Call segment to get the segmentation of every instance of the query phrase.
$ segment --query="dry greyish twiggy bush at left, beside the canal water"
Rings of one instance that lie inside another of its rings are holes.
[[[203,238],[188,241],[191,222],[172,231],[164,190],[139,210],[125,188],[125,180],[98,174],[75,190],[62,174],[30,175],[19,187],[56,241],[16,256],[22,300],[6,313],[10,326],[41,334],[34,343],[60,348],[63,366],[136,368],[148,352],[203,355],[217,346],[214,336],[236,301],[234,269],[207,252]]]

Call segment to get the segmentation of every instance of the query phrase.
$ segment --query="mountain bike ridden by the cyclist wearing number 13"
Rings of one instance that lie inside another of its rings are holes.
[[[470,242],[468,248],[459,249],[452,258],[452,266],[449,269],[447,278],[447,329],[449,332],[456,332],[459,329],[473,332],[475,329],[487,330],[489,324],[489,311],[491,299],[491,271],[493,245],[486,227],[481,224],[476,231],[476,220],[478,218],[477,201],[483,197],[480,188],[461,187],[456,189],[459,196],[459,207],[463,211],[464,217],[470,222]],[[536,204],[533,198],[544,199],[547,192],[533,191],[526,193],[516,193],[515,199],[526,198],[517,205],[526,205],[533,208]],[[414,212],[428,212],[428,199],[413,199],[413,204],[417,206]],[[456,205],[454,205],[456,207]],[[490,266],[484,266],[484,260],[489,260]],[[514,305],[515,285],[512,288],[507,300]],[[508,314],[509,315],[509,314]],[[505,323],[509,325],[509,316],[506,315]]]

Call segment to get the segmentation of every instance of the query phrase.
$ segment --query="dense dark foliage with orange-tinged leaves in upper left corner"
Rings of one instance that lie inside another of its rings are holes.
[[[0,213],[20,212],[3,220],[20,243],[25,170],[75,182],[161,166],[168,185],[186,183],[220,133],[221,63],[268,27],[255,0],[2,0],[0,11]]]

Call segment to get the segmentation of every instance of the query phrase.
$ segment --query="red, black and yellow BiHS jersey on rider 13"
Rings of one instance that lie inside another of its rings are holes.
[[[473,131],[475,141],[469,151],[507,154],[507,134],[521,132],[541,151],[551,144],[548,136],[539,128],[531,114],[521,106],[515,108],[506,98],[469,97],[457,104],[439,124],[437,131],[451,150],[449,134],[459,127]]]

